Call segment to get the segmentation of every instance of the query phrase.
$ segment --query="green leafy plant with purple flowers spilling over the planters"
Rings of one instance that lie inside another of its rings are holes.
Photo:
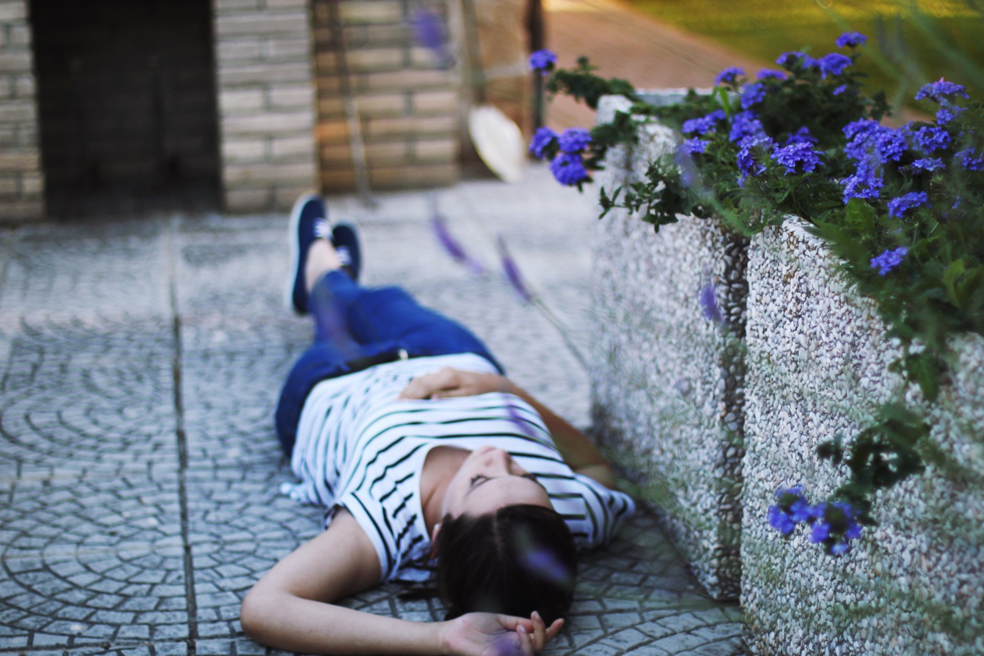
[[[556,71],[548,88],[592,107],[611,89],[634,101],[591,131],[589,168],[607,148],[632,143],[646,122],[684,134],[677,149],[649,162],[645,179],[602,189],[601,216],[627,209],[657,231],[681,215],[716,216],[745,235],[787,215],[806,219],[848,282],[876,300],[887,336],[900,341],[891,370],[933,401],[949,338],[984,334],[984,105],[934,90],[925,94],[943,110],[937,121],[881,127],[891,113],[885,93],[861,92],[859,55],[848,52],[849,62],[783,56],[784,78],[735,77],[670,106],[647,105],[625,81],[601,80],[584,58],[577,70]],[[931,143],[932,135],[942,141]],[[890,403],[850,447],[839,438],[822,445],[823,457],[851,472],[833,498],[872,523],[875,492],[923,470],[921,453],[934,452],[929,433],[912,411]]]

